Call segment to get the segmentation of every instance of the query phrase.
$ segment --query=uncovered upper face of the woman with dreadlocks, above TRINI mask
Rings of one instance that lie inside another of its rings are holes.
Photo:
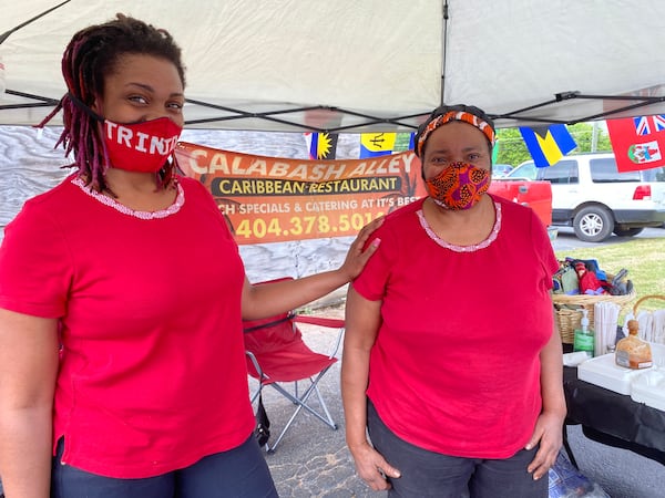
[[[126,54],[104,79],[104,94],[93,110],[115,123],[139,123],[167,116],[184,124],[183,83],[175,65],[166,59]]]

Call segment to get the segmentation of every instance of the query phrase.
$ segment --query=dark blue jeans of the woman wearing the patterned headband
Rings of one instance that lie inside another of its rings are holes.
[[[510,458],[462,458],[429,452],[397,437],[367,401],[367,427],[375,448],[401,477],[390,479],[390,497],[546,498],[548,477],[533,480],[526,466],[536,448]]]

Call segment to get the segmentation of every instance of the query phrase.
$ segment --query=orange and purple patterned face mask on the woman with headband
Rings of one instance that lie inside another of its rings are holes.
[[[469,209],[488,191],[490,172],[468,163],[452,163],[424,183],[434,203],[457,211]]]

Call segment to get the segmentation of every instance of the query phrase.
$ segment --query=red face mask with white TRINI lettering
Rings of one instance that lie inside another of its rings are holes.
[[[121,124],[104,120],[104,144],[111,166],[157,173],[173,153],[183,127],[168,117]]]

